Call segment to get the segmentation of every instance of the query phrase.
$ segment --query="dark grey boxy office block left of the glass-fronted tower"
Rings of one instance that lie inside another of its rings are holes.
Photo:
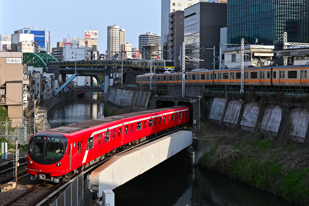
[[[215,55],[218,56],[220,28],[226,27],[226,6],[226,4],[199,2],[184,10],[186,56],[204,60],[189,62],[186,64],[187,70],[213,69],[212,48],[215,46]],[[216,61],[215,68],[219,69],[218,58]]]

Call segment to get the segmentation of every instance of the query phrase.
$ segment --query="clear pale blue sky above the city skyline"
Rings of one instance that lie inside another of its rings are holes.
[[[161,0],[0,0],[0,34],[21,28],[50,31],[51,47],[68,37],[84,37],[91,28],[98,32],[98,50],[105,54],[107,26],[125,29],[125,41],[138,47],[138,35],[161,35]]]

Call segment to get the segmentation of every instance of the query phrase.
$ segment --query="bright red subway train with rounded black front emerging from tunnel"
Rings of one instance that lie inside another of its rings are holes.
[[[192,109],[168,107],[80,122],[33,134],[31,179],[66,182],[72,175],[132,144],[192,122]]]

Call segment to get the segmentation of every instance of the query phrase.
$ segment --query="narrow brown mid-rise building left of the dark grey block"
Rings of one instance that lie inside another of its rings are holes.
[[[180,68],[179,55],[180,46],[184,41],[184,11],[175,11],[169,15],[167,49],[167,59],[175,61],[175,69]]]

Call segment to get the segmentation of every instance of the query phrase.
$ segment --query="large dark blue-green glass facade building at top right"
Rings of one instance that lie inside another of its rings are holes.
[[[240,44],[244,38],[254,44],[257,38],[257,44],[277,42],[275,49],[282,49],[284,32],[288,42],[309,42],[308,8],[307,0],[228,1],[227,43]]]

